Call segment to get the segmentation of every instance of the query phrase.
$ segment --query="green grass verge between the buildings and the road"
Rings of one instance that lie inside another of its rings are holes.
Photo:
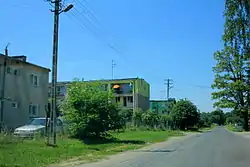
[[[137,149],[146,143],[161,142],[170,136],[178,136],[174,131],[126,131],[112,133],[116,140],[84,144],[80,140],[59,138],[58,147],[45,145],[44,139],[4,140],[0,136],[0,167],[40,167],[59,163],[77,157],[79,160],[93,161],[107,155]],[[84,155],[84,156],[83,156]]]

